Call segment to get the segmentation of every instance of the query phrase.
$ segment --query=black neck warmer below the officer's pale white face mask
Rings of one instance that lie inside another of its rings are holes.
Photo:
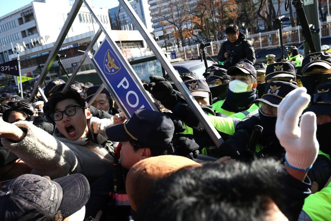
[[[242,93],[234,93],[231,90],[227,90],[222,108],[235,113],[245,111],[257,97],[256,90],[249,90]]]

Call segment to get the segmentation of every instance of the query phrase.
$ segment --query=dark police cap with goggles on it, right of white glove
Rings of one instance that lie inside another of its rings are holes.
[[[312,102],[304,111],[316,115],[331,115],[331,82],[318,84],[312,96]]]

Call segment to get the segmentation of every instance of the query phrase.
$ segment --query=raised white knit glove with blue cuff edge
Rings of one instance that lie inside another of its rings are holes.
[[[310,101],[305,87],[299,87],[286,95],[277,111],[276,136],[285,148],[285,160],[289,167],[307,171],[315,162],[319,145],[316,139],[316,115],[306,112],[299,117]]]

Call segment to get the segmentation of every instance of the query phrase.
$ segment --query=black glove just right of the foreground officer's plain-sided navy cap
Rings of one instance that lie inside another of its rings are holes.
[[[183,134],[174,135],[173,147],[179,156],[187,156],[188,154],[193,153],[193,157],[197,158],[200,153],[199,145],[194,141],[194,139],[184,137]]]

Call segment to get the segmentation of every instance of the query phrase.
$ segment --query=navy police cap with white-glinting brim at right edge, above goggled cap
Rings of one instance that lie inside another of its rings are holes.
[[[311,67],[315,68],[331,68],[331,54],[328,52],[315,52],[308,54],[302,61],[302,76]]]

